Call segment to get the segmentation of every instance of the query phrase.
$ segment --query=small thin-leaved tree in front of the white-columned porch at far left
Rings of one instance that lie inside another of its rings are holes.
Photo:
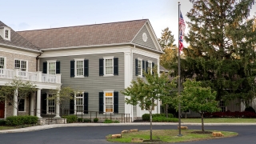
[[[17,114],[14,115],[18,115],[18,105],[21,100],[35,91],[36,85],[30,81],[22,81],[21,78],[15,77],[11,82],[7,82],[5,86],[1,86],[0,95],[2,100],[10,100],[12,106],[17,110]]]

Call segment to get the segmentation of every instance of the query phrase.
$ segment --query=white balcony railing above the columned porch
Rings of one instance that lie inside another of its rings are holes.
[[[0,69],[0,78],[14,78],[18,77],[22,80],[28,80],[32,82],[51,82],[51,83],[61,83],[61,74],[42,74],[41,71],[38,72],[28,72],[21,71],[18,69],[8,70]]]

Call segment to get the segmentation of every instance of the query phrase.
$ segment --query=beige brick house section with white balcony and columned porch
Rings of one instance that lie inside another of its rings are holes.
[[[14,77],[30,81],[37,87],[37,92],[21,99],[17,104],[4,99],[0,102],[0,118],[17,114],[37,115],[41,118],[41,90],[56,89],[61,86],[60,74],[42,74],[38,71],[38,57],[42,51],[34,46],[9,26],[0,22],[0,86],[5,86]],[[56,117],[59,117],[57,114]]]

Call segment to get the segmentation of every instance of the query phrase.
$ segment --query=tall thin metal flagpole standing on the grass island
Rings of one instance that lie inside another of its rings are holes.
[[[181,95],[181,50],[179,45],[180,37],[180,2],[178,2],[178,97]],[[181,102],[178,102],[178,136],[182,137],[182,128],[181,128]]]

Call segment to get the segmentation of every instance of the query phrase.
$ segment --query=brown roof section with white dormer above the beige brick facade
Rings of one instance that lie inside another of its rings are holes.
[[[0,21],[0,27],[6,26],[3,22]],[[6,26],[9,27],[9,26]],[[10,27],[9,27],[10,28]],[[0,45],[2,46],[14,46],[26,50],[38,50],[38,46],[34,46],[32,43],[23,38],[20,34],[10,29],[10,41],[4,40],[0,37]]]

